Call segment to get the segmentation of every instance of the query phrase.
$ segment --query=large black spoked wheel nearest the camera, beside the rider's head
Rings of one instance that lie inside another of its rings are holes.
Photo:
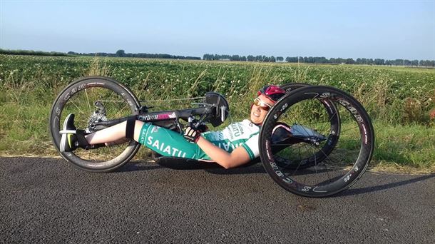
[[[278,124],[288,125],[290,133],[277,142],[272,135]],[[273,106],[259,143],[263,166],[278,185],[297,195],[324,197],[362,176],[372,158],[374,130],[355,98],[337,88],[309,86]]]

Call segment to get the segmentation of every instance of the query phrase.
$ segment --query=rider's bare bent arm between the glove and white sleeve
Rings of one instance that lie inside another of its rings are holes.
[[[213,161],[219,163],[223,168],[234,168],[250,161],[249,154],[242,146],[228,153],[222,148],[210,143],[210,141],[207,141],[207,139],[202,136],[198,139],[197,144],[203,149],[204,153],[213,159]]]

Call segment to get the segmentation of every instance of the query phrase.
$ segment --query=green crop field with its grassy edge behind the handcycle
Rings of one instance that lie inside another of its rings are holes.
[[[110,76],[145,100],[218,91],[235,121],[247,117],[255,91],[266,83],[335,86],[352,93],[374,121],[372,166],[435,172],[435,121],[429,118],[435,69],[392,66],[0,55],[0,154],[56,156],[47,132],[51,103],[66,84],[89,75]]]

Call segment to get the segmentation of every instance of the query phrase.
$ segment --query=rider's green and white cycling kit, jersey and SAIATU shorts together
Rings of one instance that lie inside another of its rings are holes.
[[[260,156],[258,149],[259,132],[260,127],[244,120],[231,123],[222,131],[204,132],[201,136],[228,153],[231,153],[238,146],[242,146],[252,160]],[[139,143],[163,156],[211,160],[196,143],[189,143],[180,133],[151,123],[143,125]]]

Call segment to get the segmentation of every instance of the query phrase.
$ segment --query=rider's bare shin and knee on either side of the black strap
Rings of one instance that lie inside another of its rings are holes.
[[[135,122],[135,131],[134,131],[134,139],[135,141],[139,141],[140,129],[143,126],[142,121]],[[127,122],[118,123],[115,126],[111,126],[109,128],[105,128],[101,131],[97,131],[86,135],[86,141],[89,144],[100,144],[100,143],[111,143],[115,141],[121,141],[126,138],[126,126]]]

